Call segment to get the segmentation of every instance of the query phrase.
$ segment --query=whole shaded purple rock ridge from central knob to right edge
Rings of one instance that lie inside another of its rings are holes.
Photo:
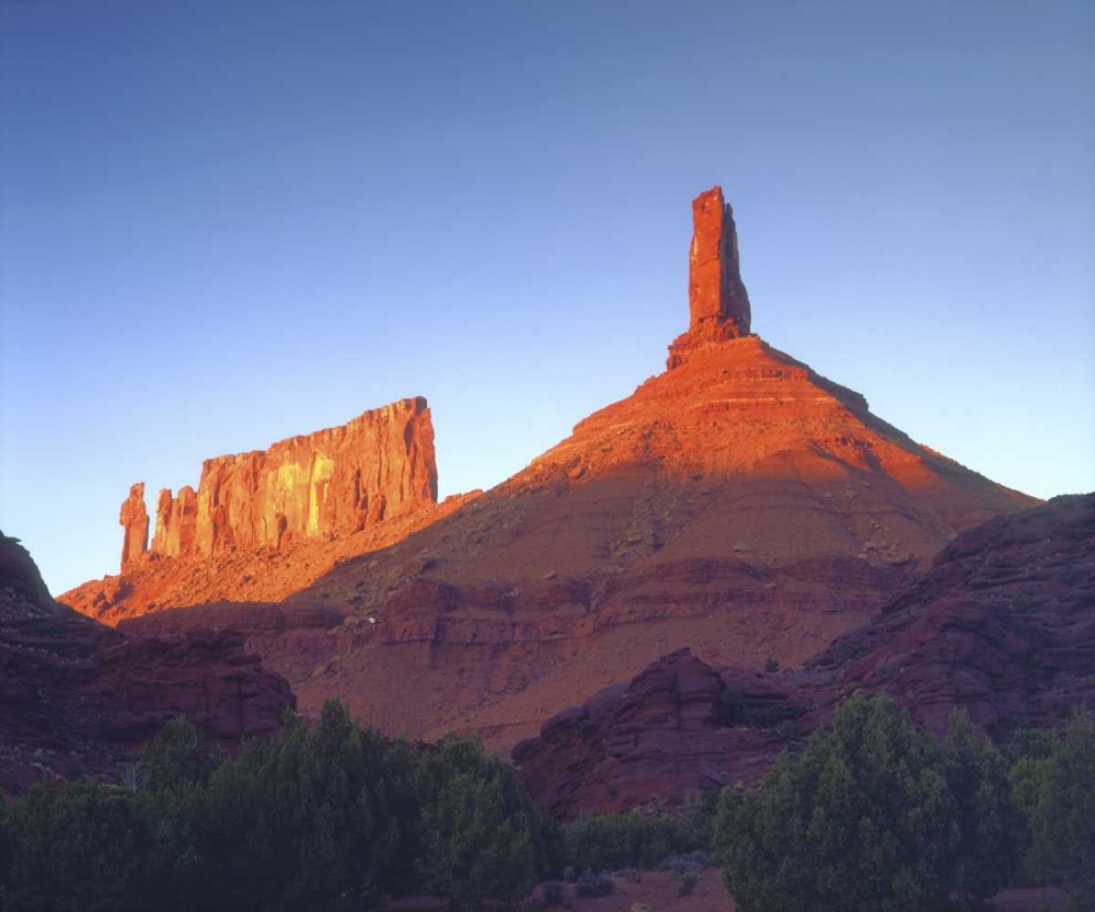
[[[757,782],[856,690],[889,692],[937,735],[961,708],[1004,742],[1095,706],[1095,495],[990,520],[802,671],[721,672],[665,656],[518,743],[534,800],[561,817]]]

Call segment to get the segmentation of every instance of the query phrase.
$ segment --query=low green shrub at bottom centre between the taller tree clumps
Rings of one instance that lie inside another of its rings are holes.
[[[584,870],[649,870],[666,855],[691,847],[683,820],[643,817],[637,810],[579,817],[566,827],[567,859]]]

